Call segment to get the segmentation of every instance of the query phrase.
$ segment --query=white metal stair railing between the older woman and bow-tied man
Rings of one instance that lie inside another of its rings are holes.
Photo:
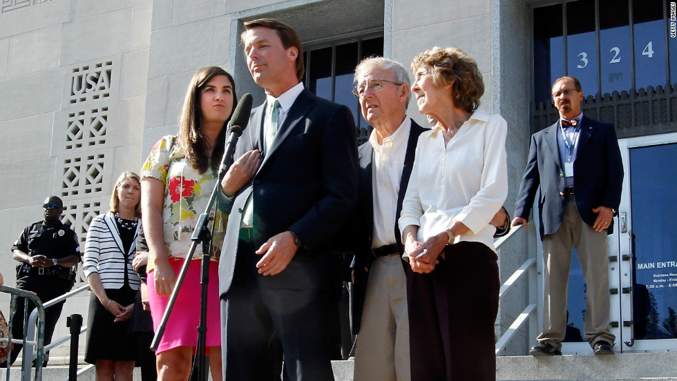
[[[508,234],[495,240],[494,242],[495,248],[499,248],[500,246],[502,246],[502,244],[504,244],[511,237],[513,237],[513,235],[515,235],[515,233],[517,233],[517,231],[519,231],[521,228],[522,225],[513,226]],[[508,277],[508,279],[501,285],[501,289],[499,290],[498,293],[499,300],[501,299],[501,297],[506,295],[506,292],[511,288],[513,288],[513,286],[517,284],[517,281],[522,279],[522,277],[524,277],[525,275],[528,276],[531,280],[535,281],[536,277],[535,268],[536,268],[536,258],[530,257],[526,261],[524,261],[522,266],[519,266],[519,268],[517,268],[517,270],[515,270],[515,272],[510,277]],[[533,282],[533,284],[535,284],[535,282]],[[530,319],[530,317],[535,316],[535,313],[538,310],[538,306],[534,302],[534,300],[531,299],[533,298],[530,297],[529,304],[526,306],[524,311],[522,311],[522,313],[520,313],[517,316],[517,318],[513,321],[513,324],[511,324],[511,326],[508,327],[505,333],[503,333],[503,335],[501,335],[501,337],[496,342],[495,344],[496,355],[498,355],[500,351],[503,351],[506,348],[508,343],[515,337],[517,331],[519,331],[519,329],[522,328],[522,326],[527,320],[533,322],[533,319]],[[532,324],[532,326],[535,326],[535,324]]]

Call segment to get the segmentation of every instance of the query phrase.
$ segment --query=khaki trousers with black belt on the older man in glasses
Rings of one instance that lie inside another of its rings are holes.
[[[409,381],[407,279],[401,255],[379,257],[369,271],[355,347],[355,381]]]

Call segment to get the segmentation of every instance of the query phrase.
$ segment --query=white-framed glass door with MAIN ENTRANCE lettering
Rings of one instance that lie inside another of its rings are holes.
[[[624,352],[677,347],[677,134],[619,141],[625,179],[617,262]],[[612,309],[614,307],[612,306]]]

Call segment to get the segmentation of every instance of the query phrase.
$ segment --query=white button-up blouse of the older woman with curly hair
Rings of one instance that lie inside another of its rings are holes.
[[[446,147],[441,127],[422,133],[400,230],[420,226],[417,240],[425,242],[456,220],[470,231],[455,242],[481,242],[495,251],[496,228],[489,222],[508,195],[507,131],[508,124],[500,115],[478,109]]]

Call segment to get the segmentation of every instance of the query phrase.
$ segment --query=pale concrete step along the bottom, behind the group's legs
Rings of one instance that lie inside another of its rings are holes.
[[[333,361],[332,367],[336,381],[353,381],[352,360]],[[539,358],[500,356],[496,358],[496,368],[497,381],[677,381],[677,352]],[[6,369],[0,369],[0,380],[6,379],[5,372]],[[44,381],[66,378],[68,367],[50,366],[43,369]],[[141,380],[138,368],[134,369],[134,380]],[[12,367],[10,381],[21,381],[19,367]],[[94,371],[79,375],[78,381],[95,381]]]

